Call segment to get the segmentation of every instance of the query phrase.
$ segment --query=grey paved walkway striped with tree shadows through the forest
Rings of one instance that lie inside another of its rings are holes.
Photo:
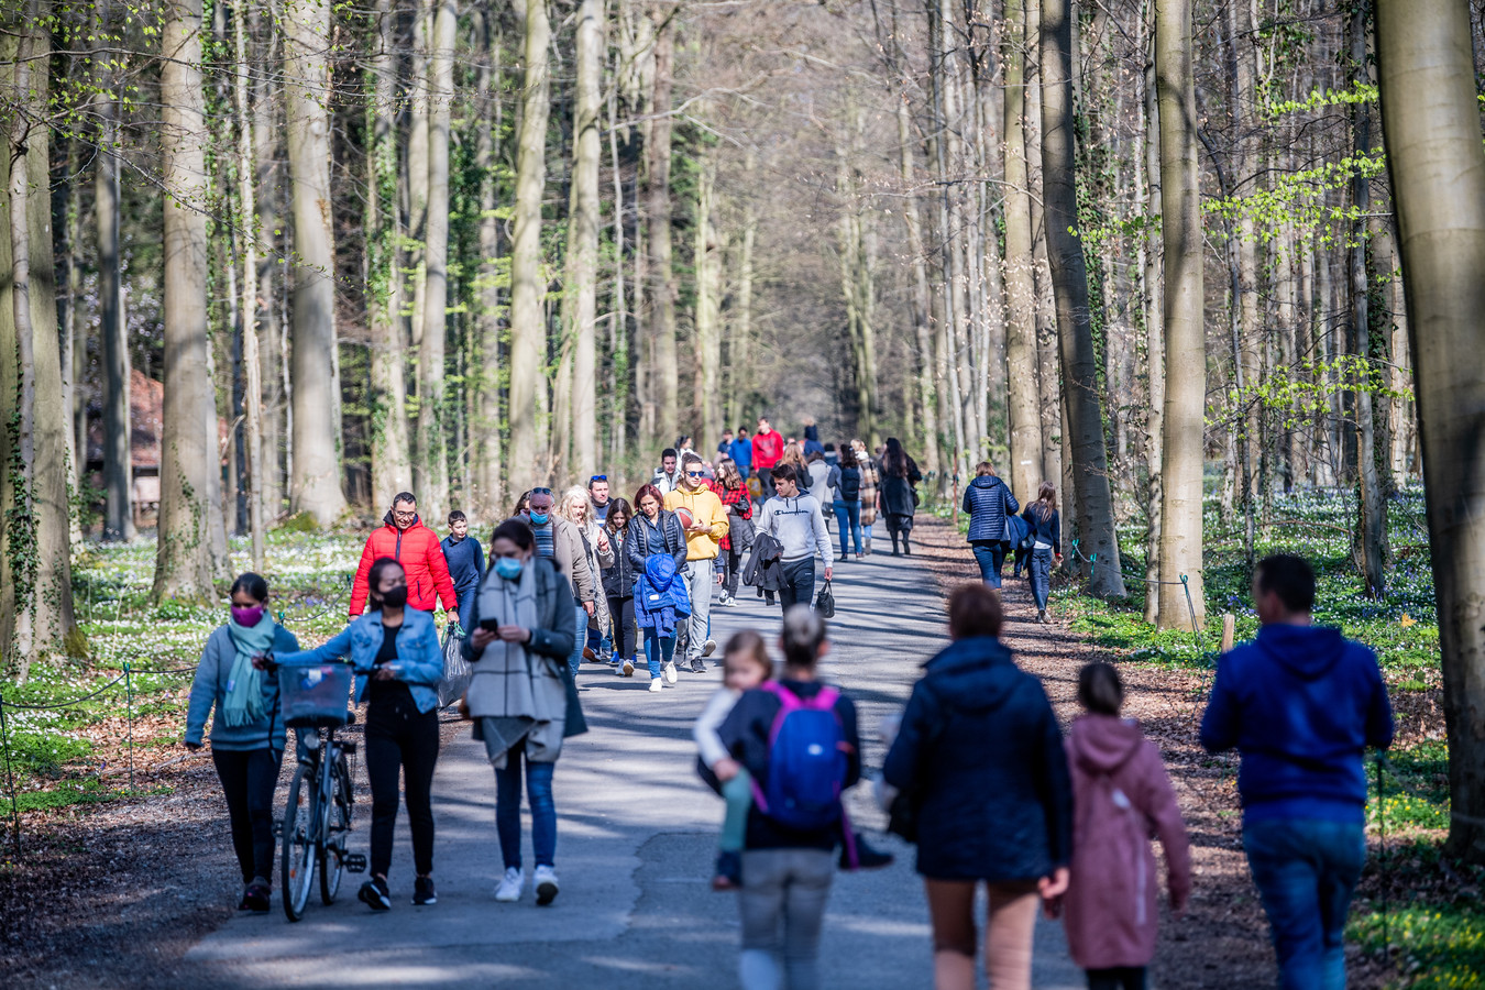
[[[838,568],[835,649],[827,678],[845,686],[861,711],[866,763],[879,767],[876,726],[906,701],[918,663],[943,637],[943,606],[930,570],[910,558],[873,555]],[[780,613],[748,597],[713,610],[713,635],[754,626],[769,638]],[[737,904],[708,882],[722,804],[696,778],[691,726],[720,683],[720,669],[682,672],[650,695],[646,680],[619,678],[585,663],[579,675],[593,730],[569,741],[557,766],[557,871],[561,895],[536,908],[496,904],[500,874],[495,837],[495,778],[484,748],[460,730],[440,757],[434,781],[438,822],[438,904],[411,907],[411,850],[405,818],[391,880],[394,908],[373,914],[355,899],[362,877],[347,874],[342,899],[310,901],[290,925],[278,907],[238,916],[187,954],[202,986],[391,987],[515,986],[604,990],[737,986]],[[863,788],[857,788],[863,790]],[[359,791],[364,794],[364,788]],[[852,794],[858,827],[885,821],[869,797]],[[367,804],[353,849],[362,849]],[[527,819],[529,822],[529,819]],[[530,831],[526,859],[530,871]],[[931,945],[912,849],[888,870],[838,874],[826,922],[826,987],[924,987]],[[230,894],[224,894],[229,895]],[[1037,934],[1035,986],[1072,990],[1081,974],[1066,959],[1062,931]]]

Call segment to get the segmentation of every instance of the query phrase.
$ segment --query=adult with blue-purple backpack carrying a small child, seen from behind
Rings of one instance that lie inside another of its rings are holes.
[[[744,692],[717,730],[756,782],[742,843],[744,990],[817,990],[820,932],[841,842],[841,793],[861,778],[855,705],[818,680],[830,644],[808,607],[784,612],[778,681]]]

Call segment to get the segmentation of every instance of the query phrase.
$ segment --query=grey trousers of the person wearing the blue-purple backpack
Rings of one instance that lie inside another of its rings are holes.
[[[823,849],[742,853],[744,990],[818,990],[820,929],[833,876],[835,855]]]

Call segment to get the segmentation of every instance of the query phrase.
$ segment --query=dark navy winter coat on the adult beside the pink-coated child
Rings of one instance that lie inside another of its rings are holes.
[[[882,766],[913,793],[918,873],[998,883],[1068,865],[1072,784],[1041,681],[992,637],[950,643],[924,668]]]

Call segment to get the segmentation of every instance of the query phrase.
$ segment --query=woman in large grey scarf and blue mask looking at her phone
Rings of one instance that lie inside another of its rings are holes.
[[[465,641],[472,675],[465,695],[474,738],[495,767],[495,827],[505,874],[495,899],[521,899],[521,766],[532,809],[536,904],[557,896],[557,803],[552,772],[563,741],[587,732],[572,653],[572,589],[549,560],[536,555],[536,537],[520,519],[506,519],[490,537],[490,573],[477,597],[477,628]],[[484,619],[481,619],[484,616]],[[493,628],[492,628],[493,625]]]

